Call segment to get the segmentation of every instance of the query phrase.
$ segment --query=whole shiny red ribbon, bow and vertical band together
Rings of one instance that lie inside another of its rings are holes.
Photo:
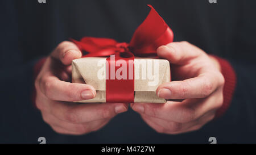
[[[106,58],[106,102],[134,102],[134,64],[133,72],[129,73],[129,60],[134,62],[134,56],[155,56],[156,49],[174,40],[174,33],[151,6],[150,13],[137,28],[130,43],[118,43],[114,39],[83,37],[80,41],[71,39],[81,51],[87,52],[83,57],[106,57],[115,55],[115,60]],[[127,79],[111,79],[111,72],[116,72],[122,66],[117,66],[117,60],[125,60]],[[112,64],[112,65],[111,65]],[[113,68],[114,66],[114,68]],[[110,72],[109,72],[110,70]],[[131,76],[133,79],[129,79]]]

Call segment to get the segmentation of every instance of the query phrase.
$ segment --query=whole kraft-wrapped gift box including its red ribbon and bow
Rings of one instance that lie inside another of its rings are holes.
[[[156,89],[170,81],[170,64],[152,56],[158,47],[171,43],[174,34],[148,6],[151,10],[130,43],[97,37],[71,39],[83,52],[82,58],[72,61],[72,82],[86,83],[97,91],[95,98],[79,102],[166,103]]]

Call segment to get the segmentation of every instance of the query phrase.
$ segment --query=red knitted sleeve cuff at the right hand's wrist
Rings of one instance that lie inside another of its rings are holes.
[[[224,101],[222,104],[222,107],[220,107],[217,112],[215,118],[220,118],[226,110],[228,110],[230,103],[233,98],[234,90],[236,87],[236,72],[232,68],[231,64],[220,57],[214,56],[218,62],[220,63],[221,66],[221,73],[224,76],[225,79],[225,84],[224,84],[224,89],[223,89],[223,97]]]

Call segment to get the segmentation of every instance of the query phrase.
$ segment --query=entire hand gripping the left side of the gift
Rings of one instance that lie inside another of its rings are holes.
[[[57,133],[82,135],[97,131],[128,109],[125,103],[72,103],[96,95],[90,85],[68,82],[71,62],[81,56],[81,51],[72,42],[60,43],[47,57],[35,81],[36,107],[42,112],[44,122]]]

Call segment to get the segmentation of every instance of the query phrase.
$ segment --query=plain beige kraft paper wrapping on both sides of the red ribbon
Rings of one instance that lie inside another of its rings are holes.
[[[98,78],[101,69],[103,76],[106,70],[104,57],[84,57],[72,61],[72,82],[86,83],[96,89],[97,95],[93,99],[81,100],[80,103],[105,103],[106,102],[106,79]],[[146,68],[144,62],[146,62]],[[99,65],[100,64],[100,65]],[[157,65],[158,64],[158,65]],[[149,68],[149,69],[147,69]],[[150,69],[151,68],[151,69]],[[158,68],[159,72],[155,72]],[[142,77],[145,70],[154,76]],[[152,71],[151,71],[152,70]],[[143,73],[142,73],[143,72]],[[136,78],[136,76],[139,78]],[[102,77],[103,77],[102,76]],[[156,89],[165,82],[170,82],[170,64],[167,60],[135,58],[134,59],[134,102],[143,103],[166,103],[166,99],[156,95]]]

